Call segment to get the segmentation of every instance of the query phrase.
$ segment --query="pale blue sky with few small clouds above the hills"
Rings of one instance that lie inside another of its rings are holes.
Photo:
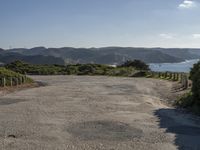
[[[0,47],[198,47],[200,0],[0,0]]]

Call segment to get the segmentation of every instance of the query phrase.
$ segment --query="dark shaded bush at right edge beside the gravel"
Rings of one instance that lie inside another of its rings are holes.
[[[177,100],[176,104],[200,115],[200,62],[194,64],[189,78],[192,81],[191,91]]]

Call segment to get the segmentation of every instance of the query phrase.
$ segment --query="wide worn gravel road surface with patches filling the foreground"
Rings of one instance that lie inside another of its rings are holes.
[[[155,79],[33,76],[47,85],[0,97],[2,150],[199,150],[199,120],[163,102]]]

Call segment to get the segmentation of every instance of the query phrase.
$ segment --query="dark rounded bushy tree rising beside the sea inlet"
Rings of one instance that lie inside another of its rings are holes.
[[[124,64],[122,64],[120,67],[134,67],[138,70],[150,70],[149,65],[147,65],[145,62],[141,60],[128,60]]]

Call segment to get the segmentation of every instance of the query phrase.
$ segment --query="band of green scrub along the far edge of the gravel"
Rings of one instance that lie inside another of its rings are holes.
[[[136,62],[136,63],[135,63]],[[127,65],[129,64],[129,65]],[[141,61],[122,64],[117,67],[101,64],[33,65],[15,61],[5,66],[7,69],[31,75],[107,75],[107,76],[145,76],[148,66]]]

